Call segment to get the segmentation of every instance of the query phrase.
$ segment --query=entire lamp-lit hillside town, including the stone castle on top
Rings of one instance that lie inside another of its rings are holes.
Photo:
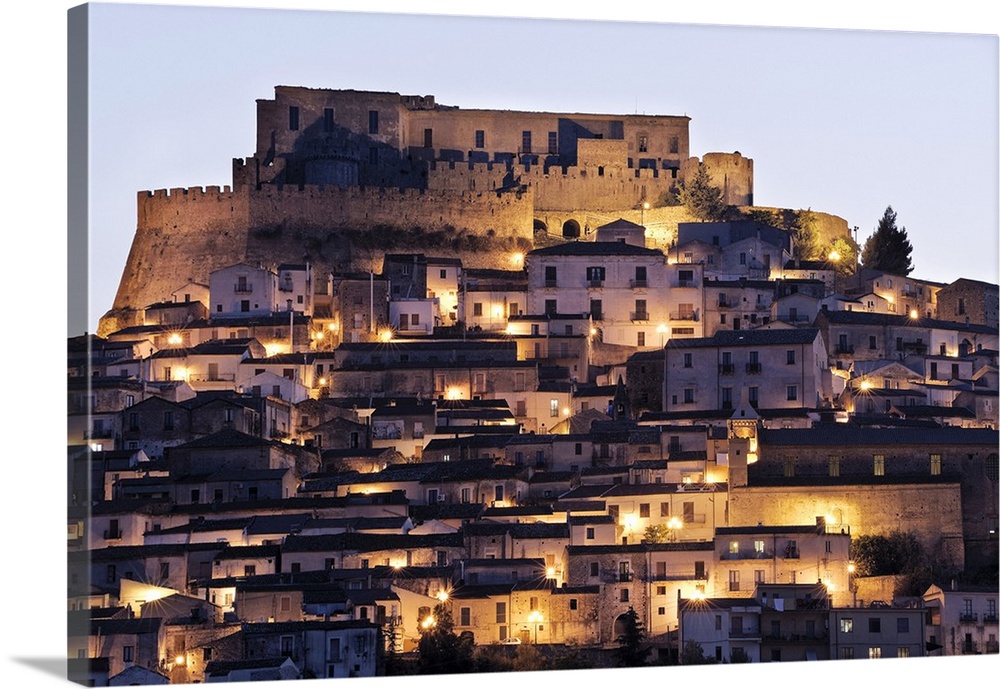
[[[72,679],[1000,651],[998,285],[686,117],[257,107],[68,342]]]

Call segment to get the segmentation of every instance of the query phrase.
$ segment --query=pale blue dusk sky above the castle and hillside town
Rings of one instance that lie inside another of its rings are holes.
[[[997,280],[995,36],[636,21],[92,5],[90,323],[142,189],[224,185],[277,84],[464,108],[686,114],[691,152],[753,158],[758,205],[871,233],[887,205],[915,277]]]

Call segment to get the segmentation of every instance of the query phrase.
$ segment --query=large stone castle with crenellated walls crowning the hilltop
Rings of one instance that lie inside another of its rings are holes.
[[[726,204],[753,204],[753,161],[691,157],[686,116],[463,110],[433,96],[278,86],[233,184],[138,194],[137,226],[99,333],[236,262],[380,270],[393,249],[505,267],[535,237],[592,238],[619,217],[651,246],[692,220],[671,205],[703,164]],[[675,203],[675,202],[674,202]],[[369,235],[366,237],[365,232]],[[372,234],[373,233],[373,234]]]

